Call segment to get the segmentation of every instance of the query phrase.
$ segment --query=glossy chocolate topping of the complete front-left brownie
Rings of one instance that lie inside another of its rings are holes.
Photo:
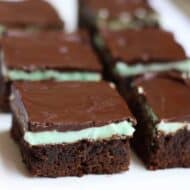
[[[106,82],[15,83],[12,92],[14,113],[29,123],[29,131],[75,131],[131,118]]]

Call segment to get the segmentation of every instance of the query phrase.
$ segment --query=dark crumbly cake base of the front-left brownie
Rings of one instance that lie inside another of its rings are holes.
[[[129,139],[30,146],[23,140],[20,129],[13,117],[11,135],[19,144],[23,161],[33,176],[112,174],[129,168]]]

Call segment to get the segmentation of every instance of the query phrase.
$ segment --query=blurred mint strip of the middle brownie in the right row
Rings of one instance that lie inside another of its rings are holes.
[[[173,63],[151,63],[143,65],[127,65],[123,62],[118,62],[114,68],[114,72],[123,77],[144,74],[148,72],[164,72],[169,70],[177,70],[182,73],[190,74],[190,60],[178,61]]]

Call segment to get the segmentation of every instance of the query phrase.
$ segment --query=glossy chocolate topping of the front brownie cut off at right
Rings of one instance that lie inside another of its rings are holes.
[[[142,78],[136,85],[159,120],[190,122],[190,86],[182,79],[155,76]]]

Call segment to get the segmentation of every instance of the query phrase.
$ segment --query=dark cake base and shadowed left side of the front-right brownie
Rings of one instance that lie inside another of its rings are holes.
[[[142,106],[144,97],[138,96],[136,91],[132,91],[128,96],[124,86],[120,88],[120,92],[137,118],[138,125],[135,127],[132,146],[147,169],[189,168],[190,131],[182,129],[170,135],[158,132],[154,128],[154,121],[145,114],[145,108]]]

